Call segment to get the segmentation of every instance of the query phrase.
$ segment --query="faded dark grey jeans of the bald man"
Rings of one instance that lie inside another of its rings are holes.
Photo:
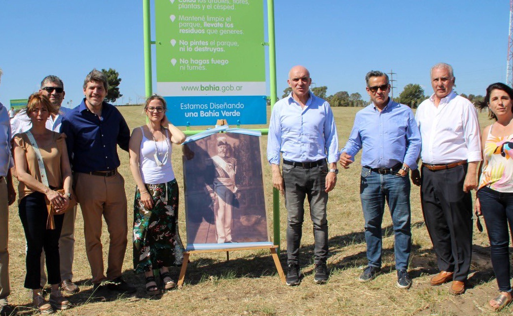
[[[313,222],[314,263],[326,263],[328,257],[328,220],[324,190],[328,166],[326,163],[310,169],[283,165],[285,207],[287,208],[287,264],[299,264],[299,245],[305,215],[305,197],[310,204]]]

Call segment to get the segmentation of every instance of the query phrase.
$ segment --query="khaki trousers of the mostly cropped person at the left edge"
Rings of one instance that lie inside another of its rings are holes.
[[[9,205],[7,182],[5,177],[0,180],[0,300],[7,298],[11,292],[9,285]]]

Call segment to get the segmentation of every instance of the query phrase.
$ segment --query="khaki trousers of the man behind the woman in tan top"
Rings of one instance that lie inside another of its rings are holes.
[[[76,207],[64,214],[63,229],[59,238],[59,255],[61,257],[61,280],[73,280],[73,255],[75,253],[75,218]],[[46,284],[45,251],[41,253],[41,286]]]

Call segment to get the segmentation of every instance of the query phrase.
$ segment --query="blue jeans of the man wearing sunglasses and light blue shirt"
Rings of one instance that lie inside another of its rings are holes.
[[[360,179],[360,198],[365,218],[365,241],[369,266],[381,268],[381,222],[386,200],[395,237],[396,269],[408,269],[411,250],[409,177],[382,175],[362,167]]]

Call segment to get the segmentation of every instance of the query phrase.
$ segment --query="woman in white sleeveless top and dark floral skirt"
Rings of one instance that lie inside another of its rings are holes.
[[[166,117],[166,101],[160,96],[146,100],[146,125],[130,137],[130,171],[137,184],[134,198],[133,265],[145,273],[146,293],[159,294],[152,270],[160,269],[164,290],[176,283],[170,266],[181,266],[183,245],[178,231],[178,184],[171,165],[171,143],[181,144],[185,134]]]

